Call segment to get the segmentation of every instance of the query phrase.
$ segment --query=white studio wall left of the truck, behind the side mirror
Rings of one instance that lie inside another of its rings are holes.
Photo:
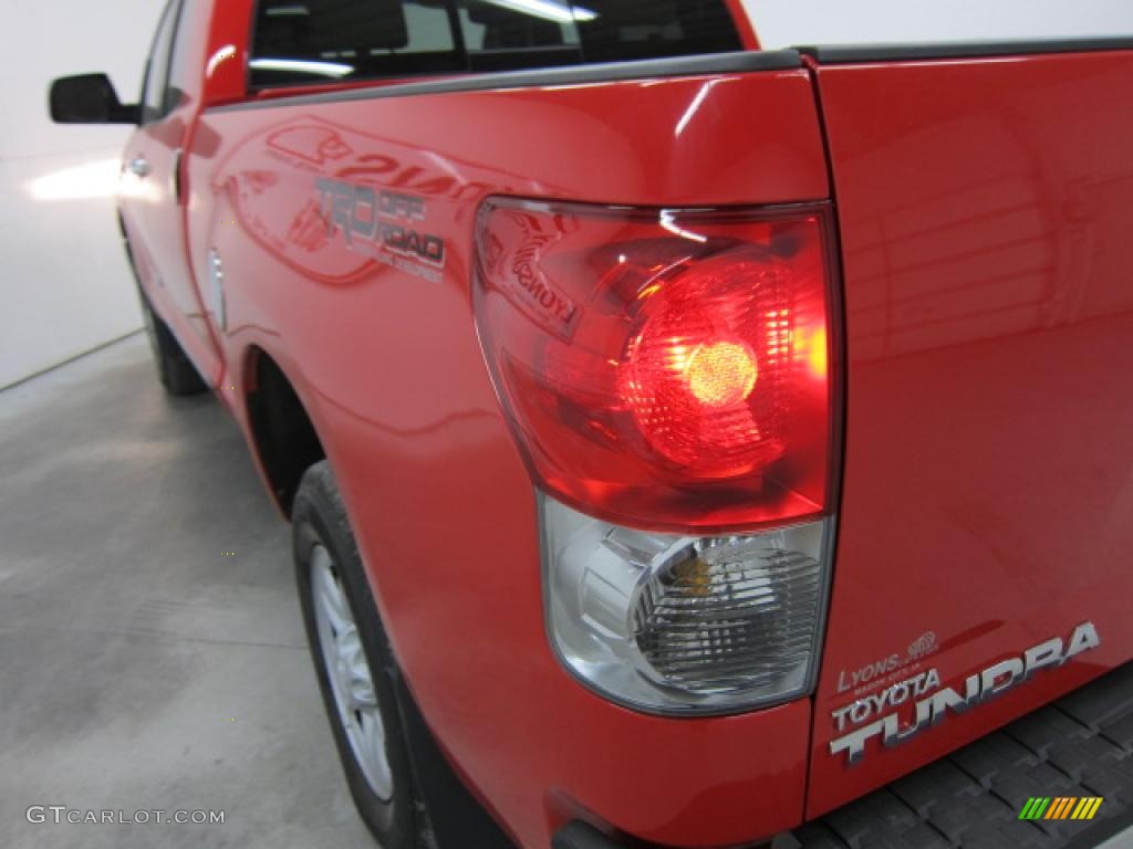
[[[0,387],[136,329],[112,191],[127,127],[57,126],[48,84],[137,100],[161,0],[0,0]]]

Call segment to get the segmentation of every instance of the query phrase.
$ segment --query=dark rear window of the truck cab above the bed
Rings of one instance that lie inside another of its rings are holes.
[[[740,50],[724,0],[261,0],[253,88]]]

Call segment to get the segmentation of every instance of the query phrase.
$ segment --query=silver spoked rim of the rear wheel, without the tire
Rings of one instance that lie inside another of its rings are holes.
[[[369,789],[387,801],[393,796],[393,773],[385,751],[385,726],[377,706],[374,677],[334,560],[321,544],[310,551],[310,592],[318,644],[339,722]]]

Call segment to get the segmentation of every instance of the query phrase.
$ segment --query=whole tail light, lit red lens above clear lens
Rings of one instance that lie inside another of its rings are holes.
[[[810,686],[828,573],[827,233],[823,205],[480,211],[477,326],[548,496],[551,629],[615,698],[730,710]]]

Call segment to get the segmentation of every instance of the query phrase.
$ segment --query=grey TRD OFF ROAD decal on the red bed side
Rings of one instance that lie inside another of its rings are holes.
[[[432,283],[441,281],[444,240],[417,230],[425,218],[424,198],[326,177],[315,178],[315,187],[327,234],[341,232],[348,250]]]

